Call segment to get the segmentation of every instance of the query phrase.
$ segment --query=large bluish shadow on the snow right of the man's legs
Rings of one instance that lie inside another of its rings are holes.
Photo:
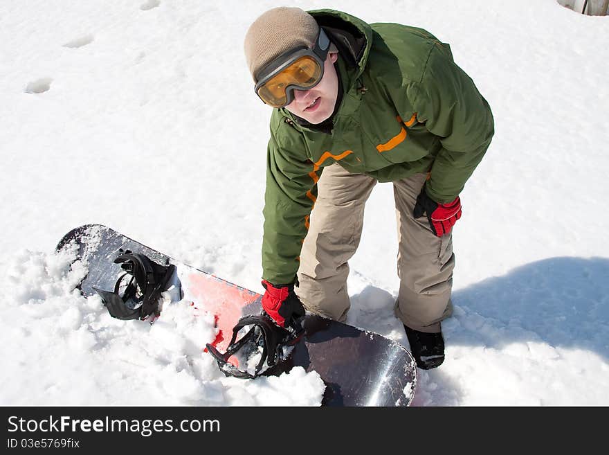
[[[474,331],[491,348],[543,341],[609,359],[609,259],[532,262],[453,292],[453,304],[453,318],[466,329],[455,330],[453,344]]]

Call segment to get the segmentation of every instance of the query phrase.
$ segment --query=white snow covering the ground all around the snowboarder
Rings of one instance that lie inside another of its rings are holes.
[[[496,136],[462,193],[446,361],[417,406],[609,404],[608,17],[555,0],[299,1],[451,43]],[[237,380],[213,321],[112,319],[53,254],[100,223],[257,292],[271,111],[242,55],[264,1],[0,3],[1,404],[320,403],[316,373]],[[392,187],[376,186],[347,322],[408,346]]]

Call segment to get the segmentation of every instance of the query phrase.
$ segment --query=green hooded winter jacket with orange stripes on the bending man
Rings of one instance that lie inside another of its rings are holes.
[[[493,116],[448,44],[399,24],[310,11],[338,46],[342,87],[331,134],[273,109],[267,154],[262,277],[293,283],[325,166],[378,181],[430,172],[426,192],[451,202],[493,136]]]

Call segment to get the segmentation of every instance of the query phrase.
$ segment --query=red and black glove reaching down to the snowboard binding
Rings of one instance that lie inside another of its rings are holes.
[[[298,319],[305,316],[305,307],[294,294],[294,285],[278,286],[262,280],[266,292],[262,296],[262,308],[280,327],[296,328]]]

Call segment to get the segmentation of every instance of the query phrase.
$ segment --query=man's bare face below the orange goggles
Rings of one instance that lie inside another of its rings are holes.
[[[309,90],[294,90],[294,99],[286,106],[288,111],[313,125],[332,115],[338,98],[338,75],[334,68],[337,59],[336,52],[328,53],[319,84]]]

